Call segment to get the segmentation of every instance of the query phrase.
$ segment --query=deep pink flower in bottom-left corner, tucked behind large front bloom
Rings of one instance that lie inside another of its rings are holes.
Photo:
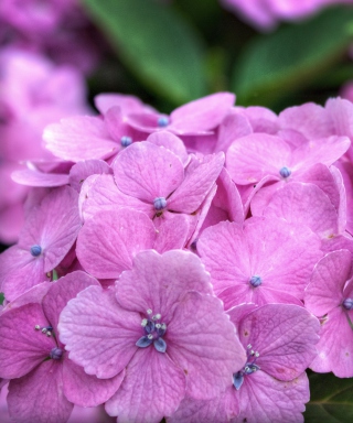
[[[74,272],[43,289],[39,285],[1,314],[0,375],[11,379],[8,405],[17,422],[64,423],[74,403],[98,405],[121,383],[124,373],[105,380],[86,375],[58,339],[60,313],[89,285],[99,284],[84,272]]]

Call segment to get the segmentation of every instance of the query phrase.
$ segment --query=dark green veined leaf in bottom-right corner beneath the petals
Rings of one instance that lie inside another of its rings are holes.
[[[352,423],[353,378],[340,379],[332,373],[310,375],[310,402],[306,423]]]

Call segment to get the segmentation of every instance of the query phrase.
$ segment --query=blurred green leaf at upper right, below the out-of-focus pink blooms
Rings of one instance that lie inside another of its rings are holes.
[[[328,9],[300,24],[254,39],[236,63],[233,90],[243,105],[270,106],[310,85],[352,42],[353,9]]]

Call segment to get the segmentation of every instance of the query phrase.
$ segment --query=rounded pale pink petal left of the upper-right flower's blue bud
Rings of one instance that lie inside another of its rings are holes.
[[[233,142],[226,154],[226,169],[236,184],[259,182],[264,176],[280,178],[279,171],[289,166],[290,148],[284,140],[253,133]]]

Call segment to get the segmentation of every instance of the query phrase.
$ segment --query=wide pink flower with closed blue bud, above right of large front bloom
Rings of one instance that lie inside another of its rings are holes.
[[[242,303],[301,304],[322,257],[314,234],[277,218],[252,218],[244,228],[220,223],[203,231],[197,251],[226,310]]]

